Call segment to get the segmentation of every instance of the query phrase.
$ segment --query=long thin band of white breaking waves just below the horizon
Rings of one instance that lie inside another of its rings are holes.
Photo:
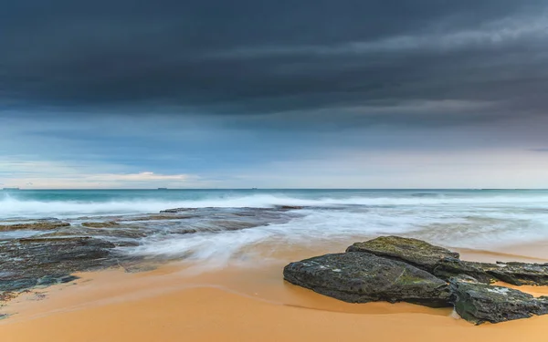
[[[447,211],[459,210],[458,206],[519,206],[522,208],[548,208],[546,196],[478,196],[478,197],[360,197],[352,193],[344,198],[321,197],[306,199],[283,194],[224,195],[198,200],[128,199],[123,201],[37,201],[20,200],[5,195],[0,198],[0,218],[74,216],[85,214],[130,214],[159,212],[168,208],[268,208],[276,205],[300,206],[444,206]],[[478,208],[481,210],[481,208]]]

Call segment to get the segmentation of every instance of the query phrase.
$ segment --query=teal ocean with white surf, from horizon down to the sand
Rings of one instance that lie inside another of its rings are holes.
[[[286,206],[286,207],[282,207]],[[291,207],[288,207],[291,206]],[[160,211],[187,210],[163,217]],[[192,208],[192,209],[189,209]],[[178,216],[177,216],[178,215]],[[0,192],[0,224],[58,219],[55,236],[109,239],[128,254],[223,264],[276,249],[379,235],[503,250],[548,239],[548,191],[45,190]],[[116,222],[90,229],[82,223]],[[0,232],[0,240],[51,232]]]

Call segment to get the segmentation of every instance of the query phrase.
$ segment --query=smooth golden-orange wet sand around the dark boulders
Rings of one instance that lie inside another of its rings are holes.
[[[278,246],[279,247],[279,246]],[[534,246],[506,254],[460,250],[463,259],[544,261]],[[537,246],[538,247],[538,246]],[[13,300],[2,312],[3,342],[26,341],[545,341],[548,316],[473,326],[452,309],[410,304],[353,305],[282,280],[287,260],[340,246],[277,248],[256,264],[168,264],[137,274],[108,270],[81,274]],[[518,256],[525,255],[525,256]],[[533,295],[548,287],[522,286]]]

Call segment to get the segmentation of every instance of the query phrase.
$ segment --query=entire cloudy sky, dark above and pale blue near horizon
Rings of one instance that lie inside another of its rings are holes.
[[[7,0],[0,183],[548,188],[545,0]]]

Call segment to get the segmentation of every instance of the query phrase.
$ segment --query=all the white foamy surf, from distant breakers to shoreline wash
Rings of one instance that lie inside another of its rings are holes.
[[[289,222],[220,233],[160,234],[128,253],[185,257],[201,264],[245,260],[271,246],[351,244],[384,234],[425,239],[450,247],[492,248],[548,239],[548,192],[451,192],[416,195],[400,192],[188,193],[108,201],[45,201],[0,197],[0,218],[58,217],[159,212],[179,207],[310,208]],[[201,222],[202,223],[202,222]],[[207,224],[207,223],[203,223]],[[260,248],[259,248],[260,247]]]

